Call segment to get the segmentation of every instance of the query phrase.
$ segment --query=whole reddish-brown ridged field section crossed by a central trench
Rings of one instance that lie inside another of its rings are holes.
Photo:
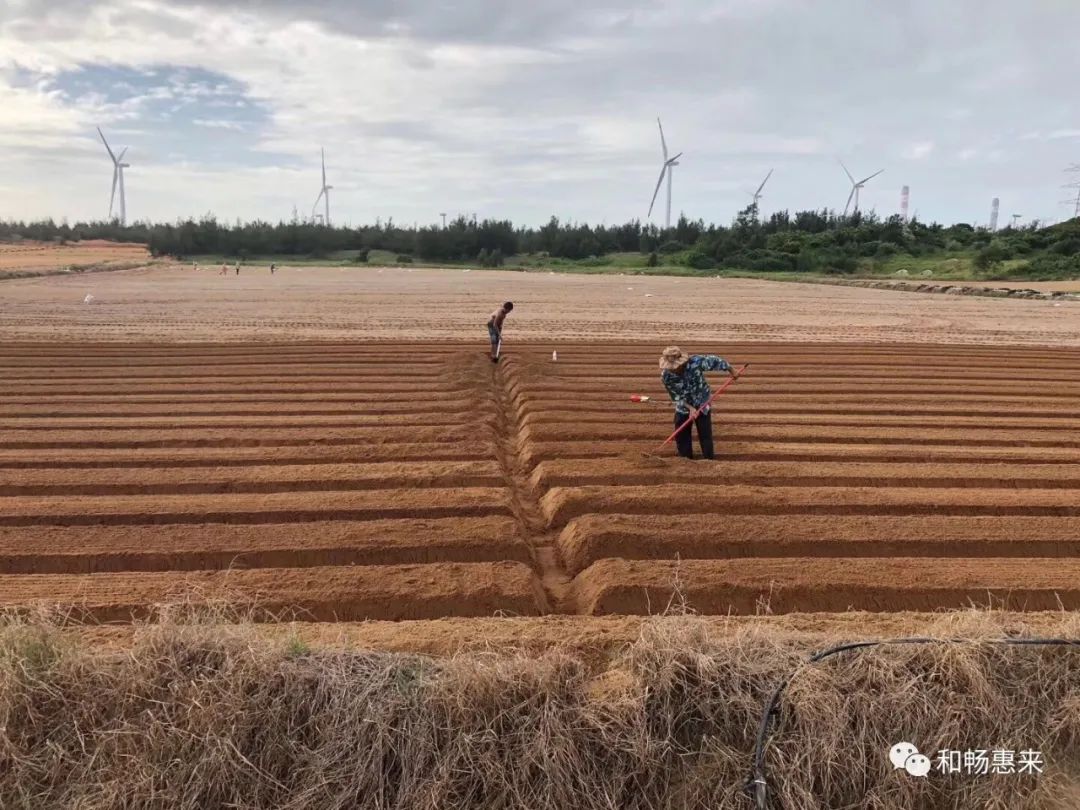
[[[753,364],[716,462],[658,453],[651,345],[8,343],[0,604],[1080,607],[1080,351],[694,349]]]

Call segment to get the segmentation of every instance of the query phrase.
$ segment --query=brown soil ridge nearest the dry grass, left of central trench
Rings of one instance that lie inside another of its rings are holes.
[[[532,571],[512,562],[0,576],[0,606],[59,605],[98,622],[153,617],[161,603],[189,594],[239,599],[265,620],[536,616],[543,610]]]

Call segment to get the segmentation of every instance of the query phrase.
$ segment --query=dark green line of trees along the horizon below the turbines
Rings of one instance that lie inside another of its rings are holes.
[[[833,211],[775,212],[759,217],[744,208],[727,226],[679,217],[671,228],[639,220],[588,225],[552,217],[541,227],[515,227],[509,219],[459,217],[445,227],[404,227],[392,220],[359,227],[292,221],[219,221],[213,215],[174,224],[116,221],[68,225],[52,220],[0,222],[0,240],[77,242],[106,239],[145,244],[154,256],[224,255],[328,258],[351,251],[389,251],[402,260],[476,261],[500,265],[528,254],[581,260],[613,253],[640,253],[649,265],[680,264],[698,270],[732,268],[762,272],[852,272],[867,260],[891,256],[971,253],[981,270],[1027,259],[1036,272],[1080,272],[1080,219],[1050,228],[1038,224],[997,232],[959,222],[943,226],[876,214],[842,216]]]

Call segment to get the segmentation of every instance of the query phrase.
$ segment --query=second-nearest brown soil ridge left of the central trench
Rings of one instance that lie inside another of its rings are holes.
[[[530,563],[513,518],[0,528],[0,573]]]

